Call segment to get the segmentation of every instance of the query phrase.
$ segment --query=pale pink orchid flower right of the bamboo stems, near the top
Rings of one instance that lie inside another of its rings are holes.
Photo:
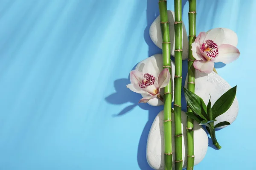
[[[192,43],[192,54],[195,57],[194,67],[207,74],[214,68],[214,62],[228,64],[236,60],[240,52],[230,44],[223,44],[224,30],[214,28],[208,34],[201,32]]]

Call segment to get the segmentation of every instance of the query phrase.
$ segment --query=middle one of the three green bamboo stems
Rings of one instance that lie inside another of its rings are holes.
[[[174,1],[175,12],[175,78],[174,78],[174,118],[175,118],[175,170],[182,170],[181,131],[181,81],[182,81],[182,11],[181,0]]]

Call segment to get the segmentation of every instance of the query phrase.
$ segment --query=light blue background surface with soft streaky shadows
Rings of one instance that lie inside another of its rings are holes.
[[[197,4],[197,33],[236,31],[241,56],[215,65],[238,85],[239,116],[195,170],[255,169],[256,1]],[[183,0],[186,28],[187,12]],[[161,53],[148,33],[158,14],[157,0],[0,0],[0,170],[150,170],[147,136],[163,107],[138,105],[125,86]]]

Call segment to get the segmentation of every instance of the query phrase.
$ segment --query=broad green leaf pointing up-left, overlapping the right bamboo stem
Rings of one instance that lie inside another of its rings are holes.
[[[194,94],[193,92],[189,91],[188,89],[184,88],[184,94],[186,101],[188,102],[190,108],[201,118],[208,120],[207,116],[207,107],[204,103],[204,100],[201,99],[198,95]]]

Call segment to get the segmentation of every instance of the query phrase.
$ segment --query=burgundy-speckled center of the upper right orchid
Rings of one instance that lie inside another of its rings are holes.
[[[212,40],[206,40],[205,43],[202,44],[200,51],[205,59],[210,60],[217,57],[218,45]]]

